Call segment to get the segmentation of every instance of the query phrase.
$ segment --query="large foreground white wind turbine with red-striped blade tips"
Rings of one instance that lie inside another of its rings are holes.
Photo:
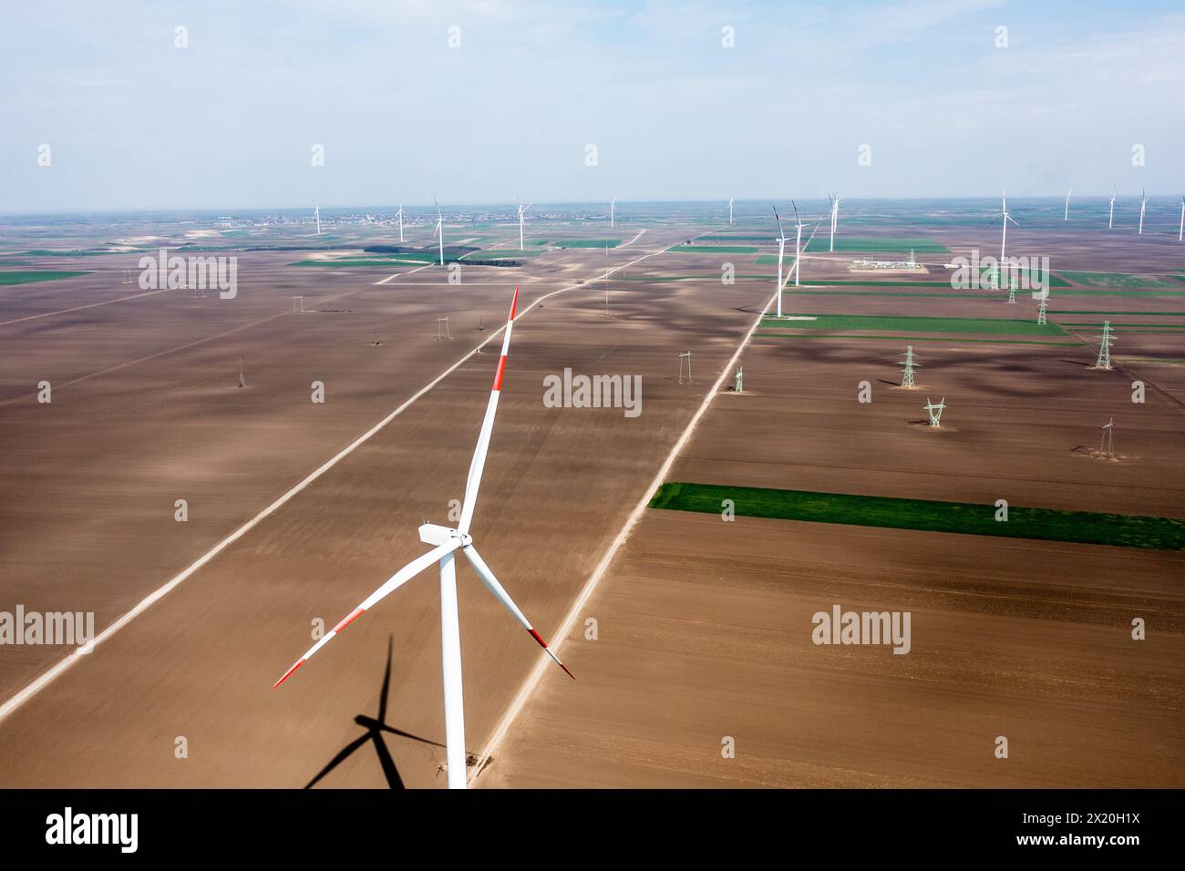
[[[419,540],[434,545],[430,551],[423,553],[392,575],[386,583],[372,593],[360,606],[354,608],[333,629],[327,632],[308,651],[305,652],[284,674],[273,684],[275,690],[293,672],[305,665],[308,659],[319,649],[325,647],[331,639],[340,634],[350,623],[360,617],[378,602],[395,593],[399,587],[433,565],[440,563],[441,568],[441,660],[442,675],[444,681],[444,745],[446,758],[448,761],[448,786],[449,789],[465,789],[465,710],[463,687],[461,684],[461,627],[456,609],[456,551],[461,551],[473,565],[478,579],[489,590],[494,597],[502,603],[519,623],[531,634],[544,652],[556,660],[556,664],[572,677],[568,666],[559,661],[559,658],[551,652],[547,642],[543,640],[538,632],[531,626],[527,619],[519,610],[514,601],[494,577],[494,572],[486,565],[486,561],[473,546],[473,537],[469,527],[473,524],[473,512],[478,504],[478,488],[481,486],[481,473],[486,467],[486,454],[489,449],[489,435],[494,428],[494,415],[498,411],[498,398],[502,389],[502,376],[506,372],[506,356],[510,353],[511,331],[514,327],[514,310],[518,307],[518,288],[514,288],[514,299],[511,302],[511,314],[506,320],[506,334],[502,337],[502,354],[498,360],[498,370],[494,373],[494,386],[489,391],[489,403],[486,405],[486,417],[481,422],[481,433],[478,436],[478,447],[473,451],[473,460],[469,463],[469,476],[465,485],[465,501],[461,505],[461,521],[455,530],[447,526],[425,523],[419,527]]]

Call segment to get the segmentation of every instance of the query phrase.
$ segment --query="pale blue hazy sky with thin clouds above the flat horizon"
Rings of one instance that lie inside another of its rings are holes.
[[[2,213],[1185,193],[1179,1],[41,0],[0,25]]]

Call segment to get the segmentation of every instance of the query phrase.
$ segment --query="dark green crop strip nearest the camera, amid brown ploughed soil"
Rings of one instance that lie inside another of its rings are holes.
[[[994,505],[683,482],[659,486],[649,507],[719,514],[725,499],[739,517],[1185,550],[1185,520],[1168,517],[1010,506],[1008,519],[998,521]]]

